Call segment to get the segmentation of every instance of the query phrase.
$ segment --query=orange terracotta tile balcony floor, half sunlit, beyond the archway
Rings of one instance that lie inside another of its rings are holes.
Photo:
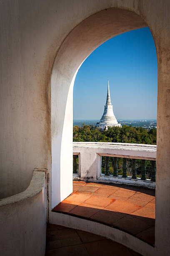
[[[53,211],[104,223],[155,243],[155,190],[73,181],[73,193]]]

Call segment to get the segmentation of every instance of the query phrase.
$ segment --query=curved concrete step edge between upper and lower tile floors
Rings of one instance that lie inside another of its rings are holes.
[[[155,248],[150,246],[148,243],[145,243],[122,230],[118,230],[95,221],[85,220],[83,218],[77,218],[59,212],[50,212],[50,223],[75,228],[106,237],[112,241],[121,243],[122,245],[127,246],[133,251],[136,251],[144,256],[155,255]]]

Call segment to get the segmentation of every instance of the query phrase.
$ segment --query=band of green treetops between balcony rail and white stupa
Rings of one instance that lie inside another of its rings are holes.
[[[109,127],[107,131],[99,131],[91,125],[73,126],[73,141],[98,141],[140,143],[156,145],[156,129],[146,130],[142,127],[123,125]]]

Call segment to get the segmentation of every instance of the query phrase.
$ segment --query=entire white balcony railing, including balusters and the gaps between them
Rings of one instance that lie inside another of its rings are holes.
[[[73,179],[155,188],[156,145],[73,142]]]

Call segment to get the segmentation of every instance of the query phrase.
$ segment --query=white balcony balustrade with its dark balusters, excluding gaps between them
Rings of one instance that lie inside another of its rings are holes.
[[[150,160],[152,163],[150,182],[155,183],[155,161],[156,161],[156,145],[137,144],[137,143],[112,143],[112,142],[73,142],[73,173],[77,173],[82,180],[102,180],[108,182],[130,182],[130,184],[145,185],[146,166],[145,160]],[[77,155],[77,156],[75,156]],[[105,157],[105,174],[101,173],[102,157]],[[123,159],[122,176],[117,173],[117,159]],[[78,160],[76,160],[78,159]],[[110,174],[109,159],[112,159],[113,174]],[[127,174],[127,161],[132,159],[132,177]],[[136,176],[136,160],[142,159],[140,162],[141,179]],[[104,175],[104,177],[103,177]],[[121,181],[120,181],[121,178]],[[124,179],[124,180],[123,180]],[[140,180],[139,180],[140,179]],[[154,187],[154,184],[146,186]]]

